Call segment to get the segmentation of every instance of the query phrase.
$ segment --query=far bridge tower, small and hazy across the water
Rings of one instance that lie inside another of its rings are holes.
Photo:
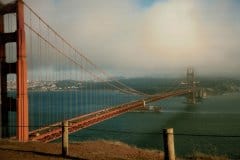
[[[187,85],[189,89],[192,90],[190,94],[187,95],[187,102],[191,104],[196,103],[196,81],[193,68],[187,68]]]

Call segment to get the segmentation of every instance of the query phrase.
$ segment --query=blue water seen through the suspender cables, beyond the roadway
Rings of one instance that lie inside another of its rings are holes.
[[[94,112],[135,99],[117,91],[83,90],[65,92],[30,92],[31,129]]]

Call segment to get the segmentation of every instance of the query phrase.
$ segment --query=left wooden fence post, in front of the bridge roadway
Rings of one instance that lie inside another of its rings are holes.
[[[68,121],[62,122],[62,155],[68,155]]]

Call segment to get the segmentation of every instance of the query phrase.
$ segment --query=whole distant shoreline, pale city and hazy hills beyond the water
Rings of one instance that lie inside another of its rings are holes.
[[[123,84],[142,91],[147,94],[155,94],[165,91],[171,91],[186,87],[182,85],[183,80],[176,78],[121,78],[118,81]],[[240,80],[230,78],[198,78],[198,87],[204,88],[209,95],[224,94],[240,91]],[[108,84],[107,84],[108,83]],[[111,85],[109,85],[111,84]],[[94,82],[94,81],[30,81],[28,82],[29,91],[66,91],[66,90],[83,90],[83,89],[113,89],[112,86],[122,88],[122,86],[113,81]],[[8,90],[16,90],[16,82],[8,82]]]

